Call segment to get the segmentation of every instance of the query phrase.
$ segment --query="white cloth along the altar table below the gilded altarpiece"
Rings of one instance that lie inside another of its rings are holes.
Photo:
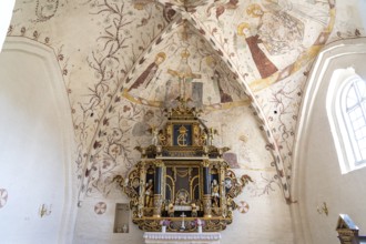
[[[179,233],[179,232],[145,232],[143,235],[148,244],[220,244],[218,232]]]

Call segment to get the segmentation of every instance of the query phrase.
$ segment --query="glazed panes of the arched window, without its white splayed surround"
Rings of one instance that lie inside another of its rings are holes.
[[[366,163],[366,81],[353,77],[340,91],[343,122],[347,129],[347,138],[352,145],[352,162],[357,167]]]

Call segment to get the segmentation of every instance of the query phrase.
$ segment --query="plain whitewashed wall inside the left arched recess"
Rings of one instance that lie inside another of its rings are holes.
[[[0,78],[0,243],[70,243],[73,134],[54,53],[8,39]]]

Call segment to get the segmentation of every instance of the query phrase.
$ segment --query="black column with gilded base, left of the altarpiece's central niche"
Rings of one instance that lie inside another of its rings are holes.
[[[162,195],[162,177],[163,177],[163,165],[162,161],[155,163],[155,177],[154,177],[154,217],[160,217],[162,213],[163,195]]]

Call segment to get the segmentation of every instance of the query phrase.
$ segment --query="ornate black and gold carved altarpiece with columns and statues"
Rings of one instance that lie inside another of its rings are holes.
[[[141,161],[119,183],[130,197],[132,222],[143,231],[222,231],[233,221],[234,199],[250,176],[240,179],[223,159],[228,148],[213,145],[215,130],[207,128],[195,108],[180,101],[166,110],[167,121],[153,129],[152,144],[136,146]]]

